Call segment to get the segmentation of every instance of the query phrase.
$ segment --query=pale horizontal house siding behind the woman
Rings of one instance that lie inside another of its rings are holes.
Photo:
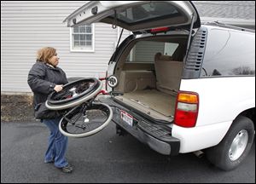
[[[95,52],[70,51],[70,28],[62,21],[84,3],[1,1],[1,92],[31,92],[27,74],[35,63],[37,50],[45,46],[57,49],[59,66],[67,78],[105,74],[118,41],[118,29],[95,24]]]

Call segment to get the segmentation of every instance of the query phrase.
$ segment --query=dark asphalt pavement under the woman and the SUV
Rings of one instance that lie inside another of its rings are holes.
[[[175,157],[152,151],[131,135],[115,135],[113,123],[102,132],[69,138],[67,158],[72,174],[44,164],[48,129],[40,123],[1,123],[3,182],[241,182],[255,183],[255,142],[245,163],[224,172],[192,153]]]

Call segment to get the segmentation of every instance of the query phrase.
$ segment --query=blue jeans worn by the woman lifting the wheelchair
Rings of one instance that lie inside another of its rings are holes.
[[[60,120],[61,118],[43,119],[43,123],[46,124],[50,131],[48,148],[44,156],[44,163],[54,161],[55,167],[58,168],[62,168],[68,164],[65,158],[67,151],[67,136],[62,135],[59,130]]]

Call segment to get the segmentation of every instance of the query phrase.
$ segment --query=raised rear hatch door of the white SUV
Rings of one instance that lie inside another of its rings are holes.
[[[199,14],[188,1],[91,1],[70,14],[67,26],[103,22],[120,26],[131,32],[143,32],[159,26],[201,26]]]

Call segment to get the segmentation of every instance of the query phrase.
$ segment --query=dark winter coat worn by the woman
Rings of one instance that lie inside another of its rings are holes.
[[[66,84],[67,77],[60,67],[51,67],[37,61],[28,73],[27,83],[34,93],[33,104],[37,106],[47,100],[55,85]]]

